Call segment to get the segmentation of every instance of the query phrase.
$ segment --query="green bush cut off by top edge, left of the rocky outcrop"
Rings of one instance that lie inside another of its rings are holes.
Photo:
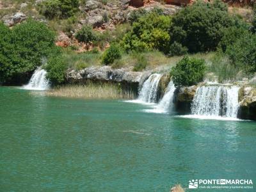
[[[73,16],[79,9],[78,0],[47,0],[38,6],[39,12],[48,19],[68,18]]]

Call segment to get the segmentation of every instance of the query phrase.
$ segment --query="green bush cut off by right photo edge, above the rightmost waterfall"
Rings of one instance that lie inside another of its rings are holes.
[[[256,35],[247,33],[228,45],[227,55],[232,64],[248,72],[256,72]]]

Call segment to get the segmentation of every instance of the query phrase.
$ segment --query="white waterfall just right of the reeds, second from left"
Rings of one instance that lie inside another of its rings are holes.
[[[143,83],[141,91],[139,93],[138,100],[142,102],[156,102],[157,99],[157,88],[161,74],[152,74]]]

